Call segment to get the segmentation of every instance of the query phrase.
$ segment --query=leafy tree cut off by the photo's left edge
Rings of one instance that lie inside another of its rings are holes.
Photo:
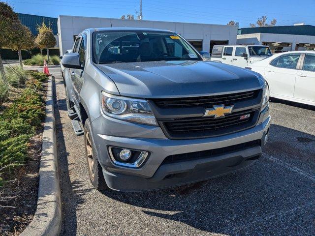
[[[12,26],[15,22],[19,22],[18,15],[5,2],[0,2],[0,49],[7,47],[15,40]],[[0,54],[0,73],[5,78],[4,67]]]

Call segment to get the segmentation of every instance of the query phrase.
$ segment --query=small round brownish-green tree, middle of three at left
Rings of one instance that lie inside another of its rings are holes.
[[[14,51],[18,51],[19,62],[21,67],[23,68],[21,50],[32,49],[35,45],[34,43],[35,39],[34,36],[32,35],[31,30],[26,26],[22,25],[20,21],[13,24],[12,30],[15,35],[15,40],[10,43],[9,47]]]

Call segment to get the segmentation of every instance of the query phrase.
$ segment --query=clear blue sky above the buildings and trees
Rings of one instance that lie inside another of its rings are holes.
[[[58,17],[58,15],[120,18],[140,9],[140,0],[4,0],[19,13]],[[259,3],[261,2],[261,3]],[[258,17],[267,15],[277,25],[306,23],[315,25],[315,0],[143,0],[143,20],[205,24],[239,22],[249,27]]]

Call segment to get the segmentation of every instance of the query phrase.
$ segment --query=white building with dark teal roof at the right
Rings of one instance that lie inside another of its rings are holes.
[[[315,26],[242,28],[238,30],[237,44],[267,45],[273,53],[315,50]]]

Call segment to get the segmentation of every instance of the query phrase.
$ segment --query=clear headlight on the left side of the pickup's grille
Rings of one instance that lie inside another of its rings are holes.
[[[158,126],[147,100],[101,93],[101,108],[105,115],[130,122]]]

